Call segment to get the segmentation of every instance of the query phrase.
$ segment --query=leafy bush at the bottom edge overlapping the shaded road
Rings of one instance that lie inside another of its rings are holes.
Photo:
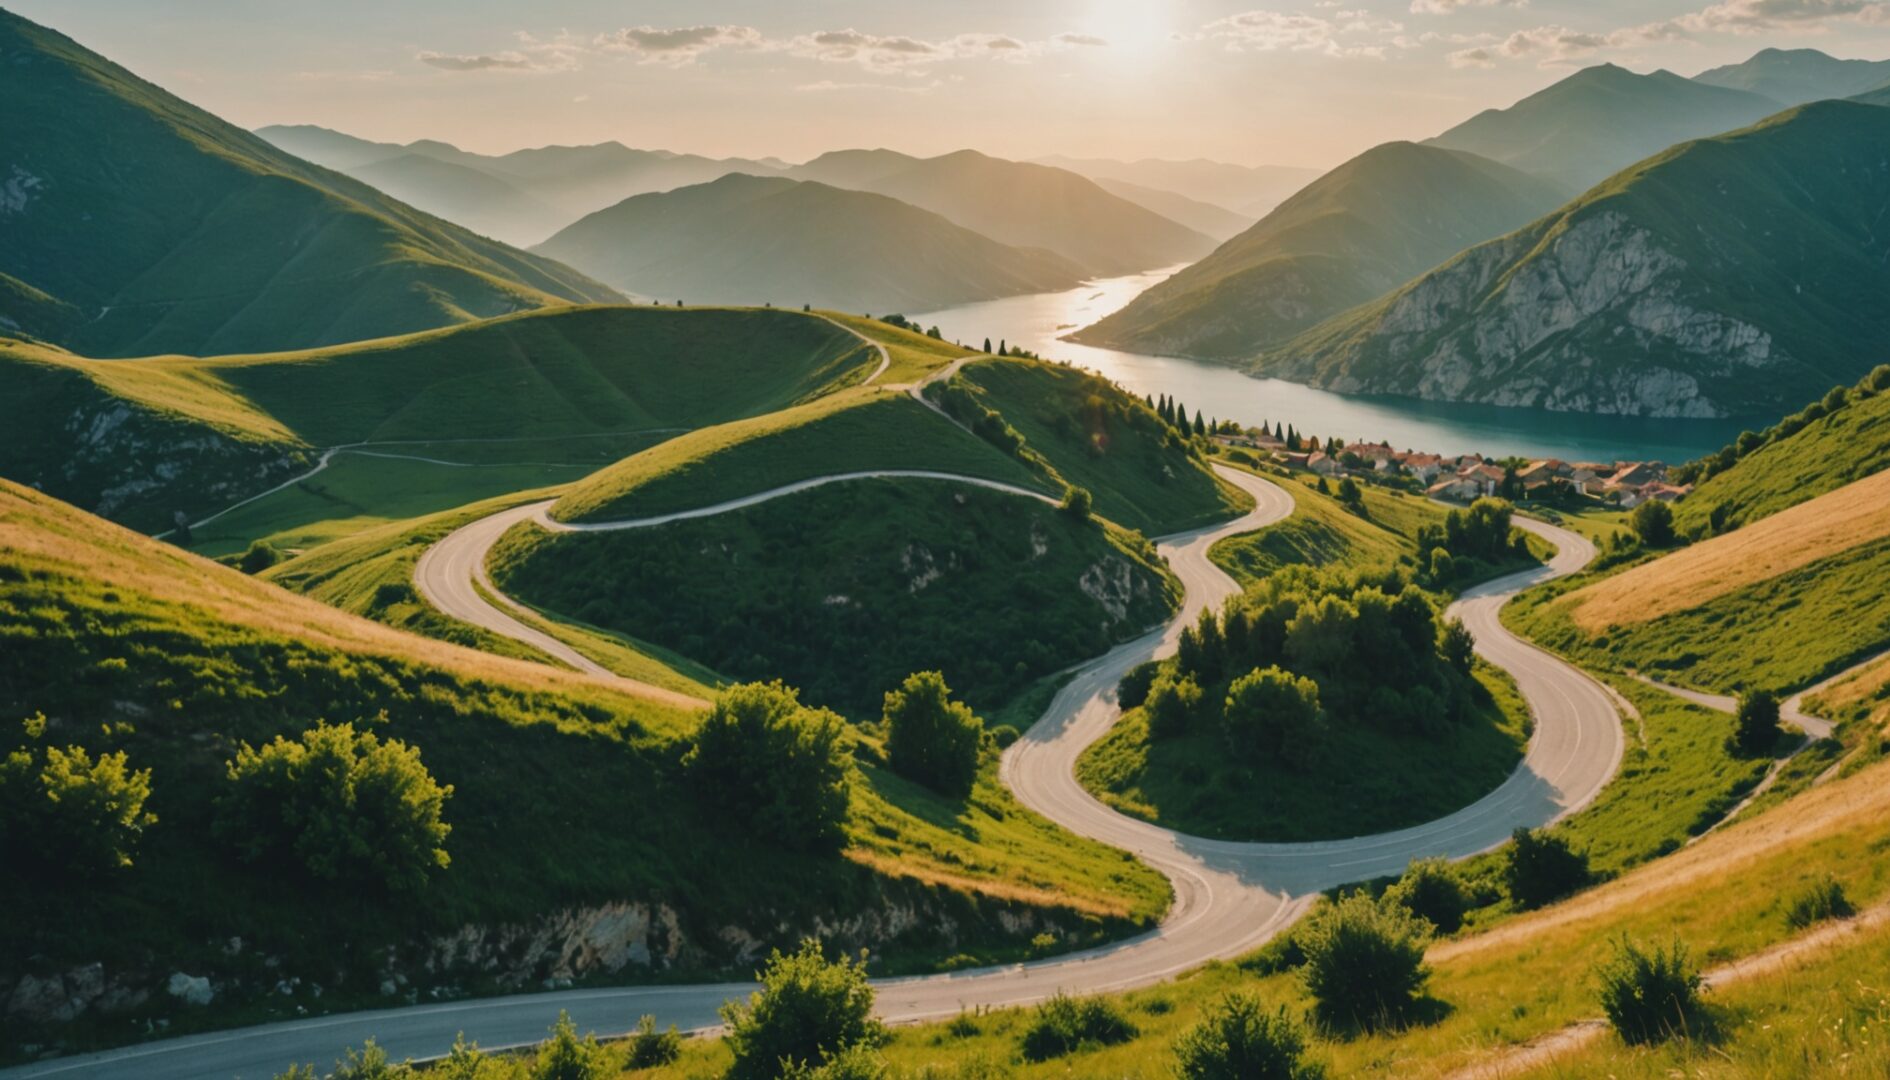
[[[758,974],[762,989],[747,1002],[722,1006],[730,1080],[775,1080],[818,1067],[854,1048],[879,1046],[886,1029],[873,1019],[866,959],[828,963],[820,942],[807,938],[794,953],[775,949]]]

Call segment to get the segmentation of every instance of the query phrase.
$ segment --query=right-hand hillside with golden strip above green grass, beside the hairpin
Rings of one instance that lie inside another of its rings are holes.
[[[1890,473],[1510,617],[1584,662],[1712,690],[1799,688],[1890,643]]]

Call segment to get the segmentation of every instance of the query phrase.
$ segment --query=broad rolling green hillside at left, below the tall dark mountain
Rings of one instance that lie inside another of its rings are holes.
[[[694,308],[558,308],[210,359],[98,361],[0,344],[0,475],[155,531],[174,513],[198,520],[306,471],[321,446],[393,443],[380,452],[595,467],[675,429],[856,382],[877,363],[860,339],[801,312]],[[575,473],[527,486],[552,479]],[[440,486],[478,492],[491,480],[459,469]],[[308,499],[325,499],[321,488],[251,513],[319,511]],[[329,516],[353,513],[391,509],[357,501]],[[225,526],[221,535],[266,533]]]

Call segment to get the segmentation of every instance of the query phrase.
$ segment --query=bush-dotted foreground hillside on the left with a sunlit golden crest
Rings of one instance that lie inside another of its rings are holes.
[[[988,743],[971,791],[943,796],[885,768],[875,732],[830,728],[809,758],[826,817],[784,819],[784,845],[728,811],[745,781],[716,783],[713,811],[690,796],[692,762],[709,753],[694,713],[399,634],[15,486],[0,488],[0,550],[4,749],[25,753],[0,770],[0,810],[36,806],[47,785],[96,794],[89,845],[47,847],[0,885],[15,914],[0,967],[57,976],[102,963],[132,987],[185,970],[217,987],[214,1008],[159,993],[76,1025],[23,1016],[21,1038],[87,1046],[153,1018],[187,1031],[387,1004],[395,972],[444,995],[537,985],[556,957],[427,970],[425,942],[586,904],[667,906],[662,955],[684,976],[728,970],[730,925],[767,940],[835,912],[934,912],[858,942],[877,974],[1096,942],[1168,902],[1155,872],[1019,808]],[[779,760],[728,768],[782,779]],[[344,774],[363,800],[323,802]],[[25,825],[9,817],[0,832]],[[718,872],[731,857],[748,872]],[[947,921],[951,938],[936,929]],[[161,972],[147,972],[151,955]]]

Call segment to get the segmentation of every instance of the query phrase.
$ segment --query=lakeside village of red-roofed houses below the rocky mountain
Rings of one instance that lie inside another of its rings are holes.
[[[1217,435],[1223,446],[1266,450],[1291,469],[1306,469],[1321,477],[1376,473],[1382,477],[1416,477],[1425,494],[1435,499],[1472,501],[1480,496],[1540,497],[1555,484],[1624,509],[1648,499],[1671,503],[1692,492],[1692,484],[1669,484],[1661,462],[1561,462],[1544,458],[1516,469],[1514,480],[1504,465],[1482,454],[1419,454],[1393,450],[1385,443],[1348,443],[1336,454],[1327,450],[1287,450],[1287,444],[1268,433]]]

